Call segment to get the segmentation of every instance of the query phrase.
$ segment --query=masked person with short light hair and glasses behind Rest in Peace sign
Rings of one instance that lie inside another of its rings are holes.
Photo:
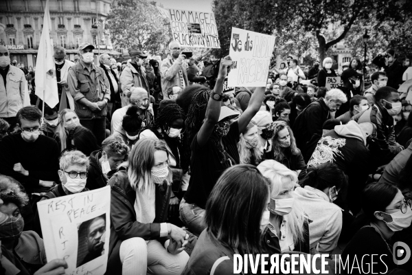
[[[57,173],[61,183],[50,188],[48,192],[33,193],[33,199],[37,197],[36,201],[44,201],[89,191],[89,188],[85,187],[88,177],[89,157],[80,151],[65,151],[59,159],[59,166],[60,169]],[[37,208],[34,211],[34,231],[43,237]]]

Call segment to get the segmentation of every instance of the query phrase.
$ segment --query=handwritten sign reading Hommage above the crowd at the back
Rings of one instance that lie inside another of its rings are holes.
[[[220,49],[218,28],[213,12],[169,10],[172,39],[182,47],[211,47]]]

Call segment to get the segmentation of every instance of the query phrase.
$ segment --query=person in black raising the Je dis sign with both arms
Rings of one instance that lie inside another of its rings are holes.
[[[255,113],[259,111],[264,98],[264,87],[258,87],[251,96],[249,107],[236,122],[230,124],[230,120],[238,117],[238,113],[222,106],[222,89],[228,72],[227,67],[231,64],[230,56],[220,62],[216,85],[210,96],[209,91],[201,89],[200,85],[196,86],[201,90],[192,97],[185,120],[185,131],[191,142],[187,147],[190,146],[192,157],[190,184],[179,210],[183,224],[196,235],[205,229],[203,217],[206,201],[216,181],[223,171],[240,163],[240,133],[244,132]]]

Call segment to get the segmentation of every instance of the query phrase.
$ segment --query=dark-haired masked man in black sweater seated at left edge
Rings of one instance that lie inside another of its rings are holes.
[[[0,174],[18,180],[29,194],[47,190],[58,182],[58,144],[40,135],[41,111],[37,107],[23,107],[17,118],[21,133],[1,140]]]

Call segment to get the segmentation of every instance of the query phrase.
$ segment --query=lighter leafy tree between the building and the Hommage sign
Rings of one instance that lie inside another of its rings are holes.
[[[118,0],[108,14],[106,30],[118,48],[159,53],[170,41],[168,22],[144,0]]]

